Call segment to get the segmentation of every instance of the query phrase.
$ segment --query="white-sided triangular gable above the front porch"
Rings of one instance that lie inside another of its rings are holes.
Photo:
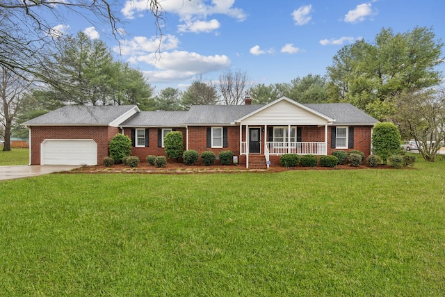
[[[243,125],[326,125],[327,117],[282,99],[240,119]]]

